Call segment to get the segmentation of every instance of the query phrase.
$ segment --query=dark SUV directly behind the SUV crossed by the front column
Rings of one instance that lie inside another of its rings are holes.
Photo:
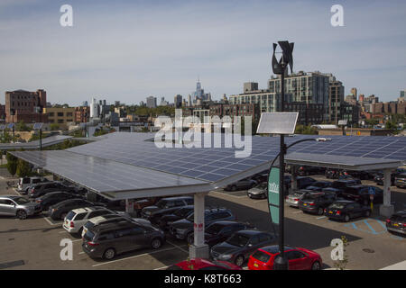
[[[193,197],[180,196],[162,198],[155,205],[144,207],[141,211],[141,217],[150,220],[152,223],[158,223],[163,215],[171,214],[182,206],[193,205]]]

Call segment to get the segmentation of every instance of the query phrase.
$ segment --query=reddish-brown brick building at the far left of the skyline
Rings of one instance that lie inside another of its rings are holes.
[[[5,121],[31,123],[46,122],[42,109],[47,106],[47,93],[39,89],[36,92],[25,90],[5,91]]]

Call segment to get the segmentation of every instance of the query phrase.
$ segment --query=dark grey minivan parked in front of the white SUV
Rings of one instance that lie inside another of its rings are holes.
[[[143,247],[157,249],[165,242],[161,229],[135,223],[109,223],[88,229],[82,248],[89,257],[113,259],[116,255]]]

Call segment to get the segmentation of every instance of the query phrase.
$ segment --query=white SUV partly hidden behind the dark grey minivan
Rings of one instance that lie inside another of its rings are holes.
[[[68,212],[63,220],[62,228],[67,230],[70,234],[78,233],[81,235],[83,225],[85,225],[89,219],[112,213],[114,212],[105,207],[98,206],[73,209]]]

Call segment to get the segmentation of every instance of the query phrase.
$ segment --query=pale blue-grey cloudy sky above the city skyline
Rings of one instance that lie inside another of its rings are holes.
[[[62,4],[72,27],[60,25]],[[343,27],[331,25],[333,4]],[[295,72],[391,101],[406,89],[405,27],[404,0],[0,0],[0,103],[40,88],[51,103],[173,102],[198,78],[214,99],[249,81],[265,89],[278,40],[295,43]]]

